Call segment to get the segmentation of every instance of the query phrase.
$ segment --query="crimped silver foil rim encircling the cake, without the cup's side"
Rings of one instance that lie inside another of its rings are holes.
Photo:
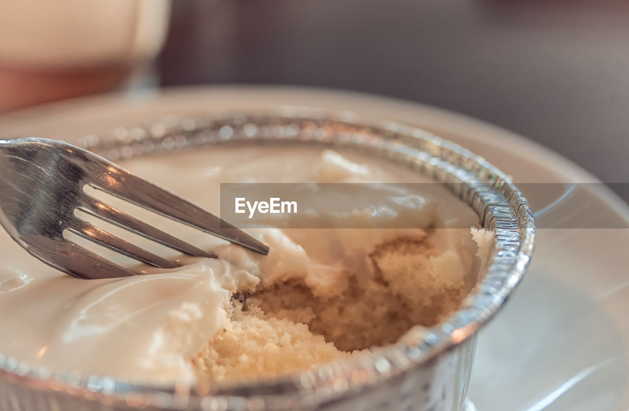
[[[477,287],[447,321],[411,329],[404,343],[313,370],[242,383],[136,385],[126,380],[31,368],[0,354],[0,378],[33,390],[64,392],[131,407],[204,410],[317,407],[402,375],[475,334],[520,283],[533,252],[535,223],[528,202],[509,177],[484,158],[419,128],[361,118],[352,112],[281,106],[222,114],[169,117],[76,141],[110,160],[231,143],[315,143],[359,148],[419,170],[455,191],[496,231],[491,258]],[[465,184],[460,184],[460,183]],[[210,397],[211,396],[211,397]]]

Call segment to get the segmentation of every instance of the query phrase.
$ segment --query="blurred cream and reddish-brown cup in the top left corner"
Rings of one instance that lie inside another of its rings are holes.
[[[1,0],[0,111],[120,87],[169,14],[169,0]]]

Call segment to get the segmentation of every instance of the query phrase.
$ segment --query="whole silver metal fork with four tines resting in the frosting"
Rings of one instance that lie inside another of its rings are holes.
[[[85,192],[86,185],[258,253],[269,253],[267,244],[246,231],[90,151],[43,138],[0,140],[0,224],[44,263],[79,278],[136,275],[65,238],[67,229],[153,266],[179,266],[84,221],[75,215],[77,209],[187,255],[216,258],[97,200]]]

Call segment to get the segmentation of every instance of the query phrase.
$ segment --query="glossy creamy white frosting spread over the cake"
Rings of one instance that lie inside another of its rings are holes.
[[[221,182],[428,181],[384,160],[317,148],[213,148],[135,159],[123,166],[214,212],[219,211]],[[342,275],[343,266],[369,271],[366,250],[412,234],[415,228],[406,227],[477,223],[474,212],[443,187],[431,186],[421,197],[391,187],[382,185],[384,210],[318,217],[328,224],[334,218],[364,219],[369,225],[389,219],[405,227],[251,229],[270,245],[269,256],[261,256],[177,224],[169,231],[212,249],[218,260],[191,260],[171,252],[191,264],[128,278],[72,278],[32,258],[1,232],[0,353],[53,371],[154,382],[192,380],[189,360],[225,324],[225,304],[233,292],[260,281],[279,281],[287,273],[303,276],[325,292],[326,283]],[[147,217],[155,224],[162,221]],[[473,254],[471,237],[455,234],[459,231],[464,230],[442,230],[442,248]]]

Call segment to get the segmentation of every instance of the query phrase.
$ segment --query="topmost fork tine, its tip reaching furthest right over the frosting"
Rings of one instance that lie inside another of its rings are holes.
[[[101,159],[103,162],[107,162]],[[269,246],[251,234],[233,226],[198,205],[107,162],[106,170],[94,175],[93,187],[133,204],[157,212],[164,217],[196,227],[231,243],[240,244],[258,253],[269,254]]]

